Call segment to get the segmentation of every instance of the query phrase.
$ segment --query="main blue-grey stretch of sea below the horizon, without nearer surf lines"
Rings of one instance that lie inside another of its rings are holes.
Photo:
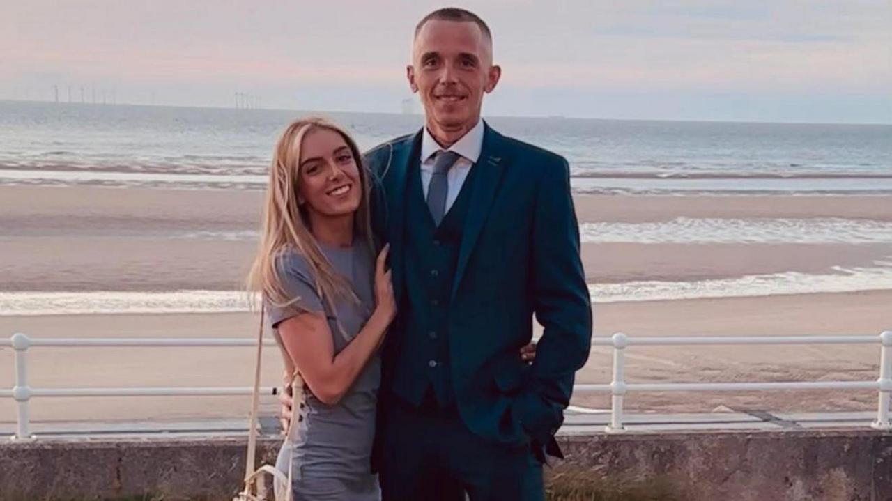
[[[260,189],[303,111],[0,101],[0,185]],[[327,113],[370,148],[414,115]],[[587,193],[892,193],[892,126],[491,118]]]

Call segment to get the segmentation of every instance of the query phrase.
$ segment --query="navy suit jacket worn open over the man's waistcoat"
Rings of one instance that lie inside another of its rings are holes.
[[[365,155],[373,174],[373,226],[391,244],[397,304],[405,304],[406,183],[420,144],[421,131]],[[474,168],[448,320],[458,413],[484,439],[557,447],[553,436],[574,373],[589,357],[592,327],[569,167],[563,157],[487,125]],[[518,351],[532,339],[533,315],[545,331],[527,365]],[[400,318],[384,341],[383,389],[405,334]],[[383,413],[386,419],[386,408]]]

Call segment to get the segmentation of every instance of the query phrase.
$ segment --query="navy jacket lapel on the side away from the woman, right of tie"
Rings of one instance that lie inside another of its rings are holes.
[[[502,173],[505,170],[507,159],[502,154],[501,138],[484,122],[483,150],[474,168],[480,169],[476,173],[476,179],[471,186],[471,200],[467,209],[465,228],[461,238],[461,246],[458,248],[458,265],[455,279],[452,283],[452,299],[458,292],[458,283],[465,274],[467,261],[471,258],[471,252],[477,242],[477,237],[483,230],[483,223],[489,216],[492,201],[495,200],[499,189]]]

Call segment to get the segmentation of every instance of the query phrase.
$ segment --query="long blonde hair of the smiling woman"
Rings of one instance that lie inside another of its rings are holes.
[[[362,194],[359,208],[353,218],[354,238],[359,236],[374,251],[369,209],[369,174],[362,164],[359,147],[343,128],[318,117],[294,120],[279,137],[269,168],[267,196],[264,203],[263,222],[260,229],[260,248],[248,275],[247,286],[251,292],[260,292],[264,300],[277,306],[292,304],[299,298],[289,297],[278,273],[277,259],[287,251],[294,251],[306,259],[315,280],[319,297],[334,308],[335,299],[358,301],[351,286],[351,278],[335,271],[331,262],[319,249],[310,228],[310,218],[301,208],[300,161],[303,138],[312,130],[327,129],[343,136],[359,168],[359,184]]]

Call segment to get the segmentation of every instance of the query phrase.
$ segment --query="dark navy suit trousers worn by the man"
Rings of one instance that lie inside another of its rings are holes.
[[[542,465],[528,445],[493,444],[469,431],[458,410],[386,399],[378,430],[383,501],[543,501]]]

